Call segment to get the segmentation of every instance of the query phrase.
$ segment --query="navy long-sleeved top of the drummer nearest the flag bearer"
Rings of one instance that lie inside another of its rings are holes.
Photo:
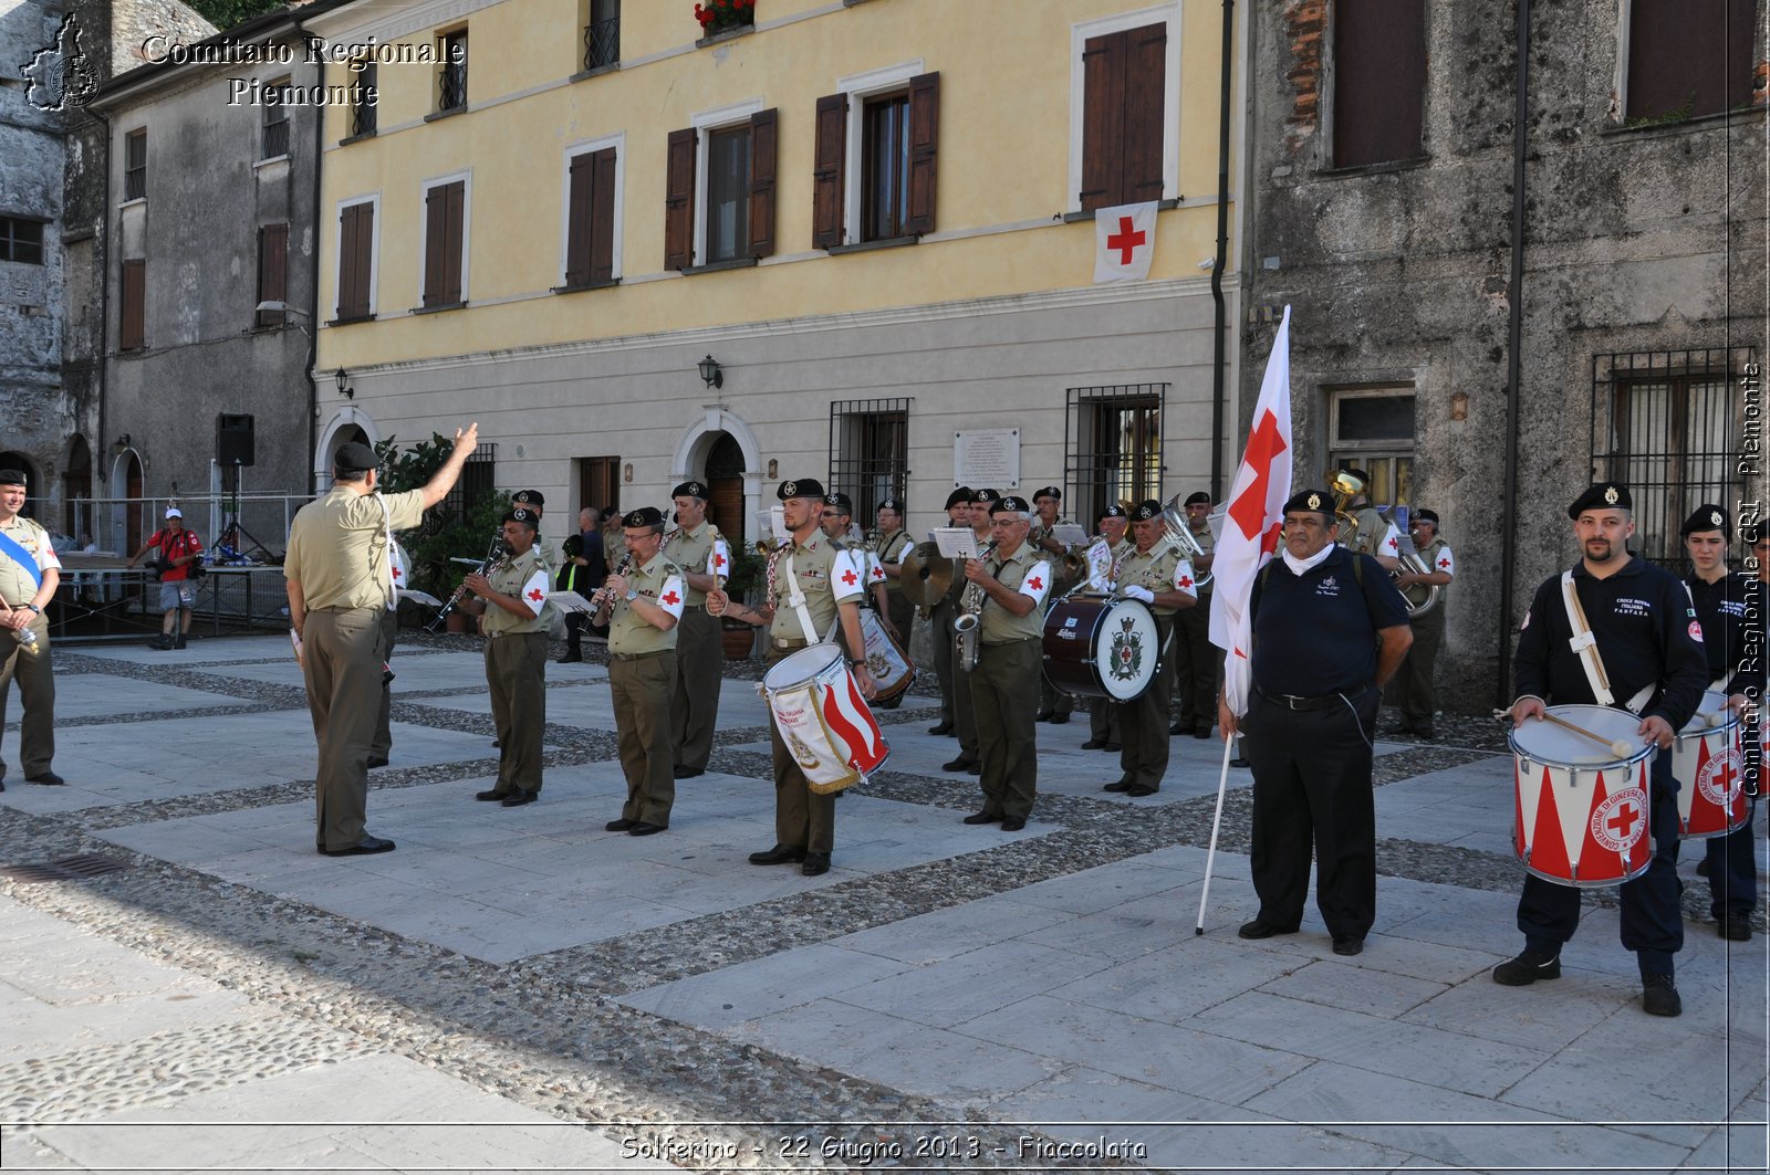
[[[1641,717],[1658,715],[1671,729],[1683,729],[1703,704],[1708,685],[1708,657],[1696,609],[1676,575],[1657,568],[1641,556],[1630,556],[1620,572],[1595,579],[1584,561],[1574,566],[1574,591],[1579,593],[1586,623],[1598,637],[1598,655],[1618,706],[1643,687],[1660,688],[1648,699]],[[1519,695],[1535,694],[1554,704],[1593,704],[1591,683],[1579,655],[1568,646],[1574,625],[1566,619],[1561,577],[1551,575],[1536,589],[1531,611],[1519,630]]]

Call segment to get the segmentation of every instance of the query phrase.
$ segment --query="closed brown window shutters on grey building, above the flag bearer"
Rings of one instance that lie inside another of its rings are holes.
[[[1356,168],[1425,154],[1427,28],[1420,0],[1336,0],[1333,163]]]

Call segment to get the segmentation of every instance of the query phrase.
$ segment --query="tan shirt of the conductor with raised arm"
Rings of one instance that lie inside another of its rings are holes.
[[[296,511],[283,579],[301,584],[308,611],[386,607],[393,591],[388,529],[409,531],[423,517],[423,490],[358,494],[349,485],[335,485]]]

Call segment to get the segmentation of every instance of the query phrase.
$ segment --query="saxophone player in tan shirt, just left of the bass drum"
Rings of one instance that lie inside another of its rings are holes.
[[[970,687],[984,789],[982,810],[965,823],[1000,823],[1002,832],[1020,832],[1039,791],[1034,711],[1044,676],[1039,662],[1051,561],[1027,541],[1032,510],[1023,497],[991,503],[989,522],[995,550],[965,561],[966,582],[982,591]]]

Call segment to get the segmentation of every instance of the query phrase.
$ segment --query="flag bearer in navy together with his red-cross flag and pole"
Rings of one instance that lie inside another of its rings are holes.
[[[1239,934],[1297,931],[1313,848],[1317,906],[1335,954],[1356,956],[1377,901],[1370,766],[1379,692],[1412,630],[1407,602],[1381,564],[1335,545],[1333,497],[1289,494],[1292,451],[1287,308],[1212,564],[1211,642],[1227,653],[1218,703],[1223,772],[1195,933],[1204,934],[1230,745],[1246,717],[1260,913]]]

